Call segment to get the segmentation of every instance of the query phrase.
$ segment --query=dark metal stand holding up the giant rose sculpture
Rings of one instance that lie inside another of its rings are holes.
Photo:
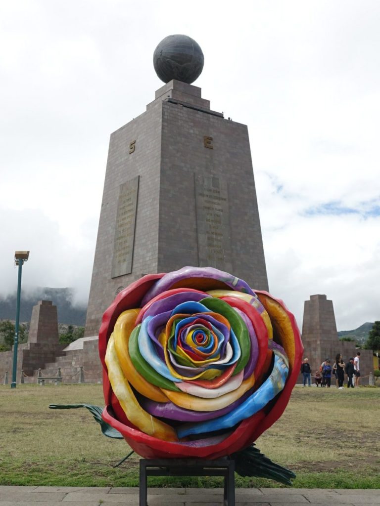
[[[201,459],[140,459],[140,502],[147,506],[148,476],[223,476],[224,506],[235,506],[235,462],[234,460]]]

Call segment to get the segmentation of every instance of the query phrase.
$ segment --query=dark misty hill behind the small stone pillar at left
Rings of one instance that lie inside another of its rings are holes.
[[[20,321],[30,322],[33,306],[38,301],[53,301],[57,306],[58,323],[84,326],[87,308],[72,305],[72,288],[35,288],[21,293]],[[5,298],[0,296],[0,319],[14,320],[16,317],[16,293]]]

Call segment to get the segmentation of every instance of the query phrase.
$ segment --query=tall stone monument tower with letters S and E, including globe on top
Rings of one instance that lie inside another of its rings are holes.
[[[165,85],[111,134],[85,336],[147,273],[212,266],[268,290],[248,129],[192,86],[203,62],[192,38],[162,40],[154,66]]]

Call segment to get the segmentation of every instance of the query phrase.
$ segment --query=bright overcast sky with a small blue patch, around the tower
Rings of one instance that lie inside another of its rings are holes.
[[[29,249],[24,288],[87,303],[109,134],[184,33],[203,98],[248,125],[270,291],[300,327],[315,293],[338,330],[379,320],[379,26],[376,0],[1,2],[0,293]]]

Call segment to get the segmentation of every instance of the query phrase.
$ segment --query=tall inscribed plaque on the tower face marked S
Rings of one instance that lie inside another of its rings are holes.
[[[132,272],[139,176],[119,186],[111,277]]]

